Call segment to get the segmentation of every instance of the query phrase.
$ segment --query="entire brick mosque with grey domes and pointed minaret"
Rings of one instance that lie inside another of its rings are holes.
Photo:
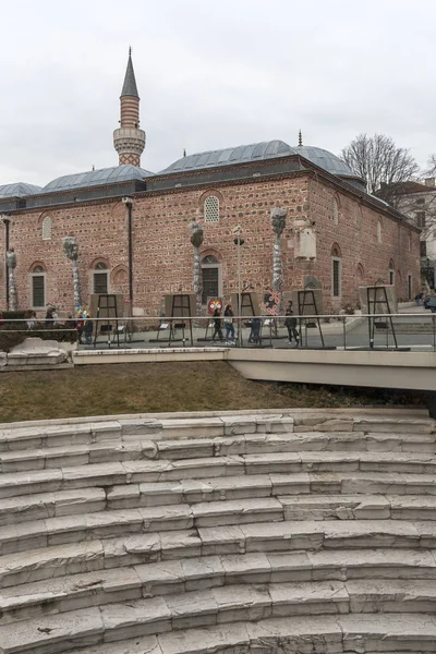
[[[420,230],[368,195],[331,153],[270,141],[183,156],[160,172],[141,167],[146,134],[129,53],[113,133],[118,166],[60,177],[39,187],[0,185],[0,308],[8,306],[5,252],[14,250],[17,303],[73,308],[63,239],[78,244],[83,299],[123,293],[133,315],[157,315],[166,293],[193,291],[189,225],[204,229],[203,300],[237,291],[233,230],[241,227],[242,284],[271,289],[270,210],[287,209],[284,289],[323,290],[324,311],[356,306],[358,288],[393,283],[400,300],[420,286]]]

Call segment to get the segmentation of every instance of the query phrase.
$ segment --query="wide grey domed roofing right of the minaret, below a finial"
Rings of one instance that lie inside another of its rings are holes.
[[[238,147],[228,147],[219,150],[209,150],[189,155],[178,159],[171,166],[160,171],[160,174],[171,172],[187,172],[190,170],[201,170],[205,168],[215,168],[220,166],[231,166],[234,164],[245,164],[247,161],[259,161],[263,159],[272,159],[276,157],[286,157],[289,155],[301,155],[305,159],[324,168],[331,174],[338,177],[360,179],[353,173],[351,168],[339,159],[332,153],[322,147],[295,145],[290,146],[284,141],[264,141],[253,143],[252,145],[240,145]]]

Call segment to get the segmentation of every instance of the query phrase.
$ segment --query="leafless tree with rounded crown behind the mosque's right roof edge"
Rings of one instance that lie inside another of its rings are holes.
[[[385,134],[359,134],[342,149],[341,158],[365,180],[368,193],[393,206],[401,184],[419,173],[419,166],[410,150],[398,147]]]

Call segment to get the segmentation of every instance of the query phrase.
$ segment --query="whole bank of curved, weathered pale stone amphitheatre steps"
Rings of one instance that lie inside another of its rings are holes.
[[[436,652],[424,411],[0,428],[0,654]]]

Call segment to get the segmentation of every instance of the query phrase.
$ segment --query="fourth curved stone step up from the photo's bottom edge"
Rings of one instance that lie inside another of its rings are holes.
[[[26,524],[27,525],[27,524]],[[20,526],[20,525],[19,525]],[[27,535],[27,534],[26,534]],[[0,556],[0,588],[50,577],[201,556],[366,548],[436,548],[432,521],[334,520],[257,522],[134,533]]]

